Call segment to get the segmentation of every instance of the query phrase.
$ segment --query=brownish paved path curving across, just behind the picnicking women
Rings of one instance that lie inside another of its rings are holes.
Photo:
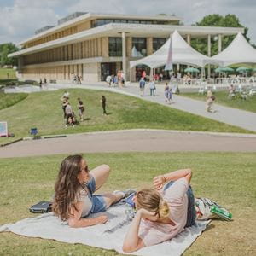
[[[256,135],[128,130],[21,141],[0,148],[0,158],[99,152],[231,151],[256,152]]]

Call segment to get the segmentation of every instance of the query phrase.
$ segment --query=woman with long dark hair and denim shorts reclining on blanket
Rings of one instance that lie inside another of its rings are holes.
[[[109,172],[107,165],[97,166],[89,172],[88,164],[81,155],[70,155],[64,159],[55,183],[55,215],[61,220],[67,220],[73,228],[106,223],[106,215],[97,218],[84,217],[90,213],[104,212],[115,202],[134,193],[134,190],[128,189],[125,192],[94,195],[107,181]]]

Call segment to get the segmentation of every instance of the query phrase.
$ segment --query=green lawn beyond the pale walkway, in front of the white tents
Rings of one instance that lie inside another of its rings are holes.
[[[229,99],[228,91],[216,91],[214,96],[216,96],[215,102],[230,108],[238,108],[246,111],[251,111],[256,113],[256,96],[249,96],[247,101],[242,99]],[[199,95],[198,93],[183,93],[183,96],[189,96],[190,98],[206,101],[206,95]]]

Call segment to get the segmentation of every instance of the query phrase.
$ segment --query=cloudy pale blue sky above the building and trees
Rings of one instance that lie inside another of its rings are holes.
[[[256,0],[0,0],[0,44],[19,43],[32,37],[43,26],[73,12],[125,15],[177,15],[184,25],[200,21],[205,15],[234,14],[248,37],[256,44]]]

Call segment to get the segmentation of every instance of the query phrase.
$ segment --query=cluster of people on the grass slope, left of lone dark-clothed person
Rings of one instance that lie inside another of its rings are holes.
[[[65,91],[63,96],[61,97],[62,101],[62,110],[64,113],[64,119],[66,119],[66,127],[67,125],[75,126],[79,124],[78,120],[76,119],[75,113],[73,108],[69,103],[69,92]],[[84,103],[78,98],[78,109],[79,109],[79,118],[81,121],[84,120]]]

